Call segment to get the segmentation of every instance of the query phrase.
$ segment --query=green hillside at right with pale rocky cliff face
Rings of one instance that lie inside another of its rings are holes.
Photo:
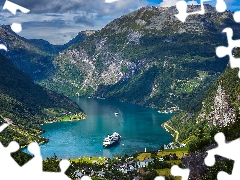
[[[240,48],[234,50],[234,56],[240,57]],[[223,132],[227,141],[240,137],[238,71],[228,65],[204,93],[199,110],[182,111],[166,122],[179,133],[179,141],[189,146],[189,155],[182,162],[184,168],[190,169],[191,179],[217,179],[219,171],[231,174],[232,160],[217,157],[216,164],[207,167],[204,158],[207,150],[217,147],[214,140],[217,132]]]

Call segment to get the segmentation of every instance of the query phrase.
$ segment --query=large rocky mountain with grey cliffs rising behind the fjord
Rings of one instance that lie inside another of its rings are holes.
[[[205,10],[186,23],[174,16],[175,7],[143,7],[117,18],[60,52],[53,61],[55,74],[39,84],[67,96],[104,97],[162,111],[190,104],[199,109],[203,92],[228,63],[215,55],[218,45],[227,46],[222,30],[240,29],[232,12],[217,13],[210,5]]]

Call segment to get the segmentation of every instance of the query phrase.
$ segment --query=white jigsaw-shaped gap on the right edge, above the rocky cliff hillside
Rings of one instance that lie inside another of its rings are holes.
[[[233,40],[233,30],[231,28],[225,28],[222,32],[227,34],[228,47],[219,46],[216,48],[216,55],[220,58],[228,55],[231,68],[240,68],[240,58],[234,58],[232,55],[232,50],[235,47],[240,47],[240,39]],[[238,72],[238,77],[240,78],[240,72]]]

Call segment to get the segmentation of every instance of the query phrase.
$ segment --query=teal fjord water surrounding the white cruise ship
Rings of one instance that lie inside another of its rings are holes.
[[[75,122],[44,124],[43,136],[49,142],[41,146],[43,158],[54,153],[59,158],[81,156],[105,156],[133,154],[157,150],[172,141],[172,137],[161,124],[171,114],[160,114],[156,109],[139,105],[91,98],[73,98],[88,115]],[[116,116],[114,113],[117,112]],[[122,136],[121,143],[110,149],[102,147],[103,139],[113,132]]]

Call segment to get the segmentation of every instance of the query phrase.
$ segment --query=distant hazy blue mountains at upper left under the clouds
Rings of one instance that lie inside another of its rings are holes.
[[[52,45],[43,39],[25,39],[13,32],[10,26],[2,25],[0,26],[0,43],[6,45],[8,52],[1,51],[1,54],[38,81],[54,74],[55,68],[52,61],[60,51],[73,43],[83,41],[87,34],[83,31],[64,45]]]

